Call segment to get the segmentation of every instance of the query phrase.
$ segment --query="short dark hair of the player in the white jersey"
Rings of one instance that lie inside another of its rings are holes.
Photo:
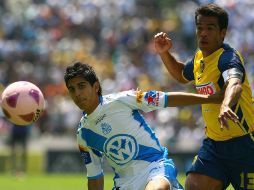
[[[90,65],[81,63],[81,62],[76,62],[73,65],[68,66],[64,74],[65,84],[67,85],[70,79],[77,76],[83,77],[86,81],[89,82],[89,84],[91,84],[91,86],[93,86],[95,82],[98,82],[99,83],[98,95],[99,96],[102,95],[102,89],[101,89],[99,79],[96,76],[95,71]]]

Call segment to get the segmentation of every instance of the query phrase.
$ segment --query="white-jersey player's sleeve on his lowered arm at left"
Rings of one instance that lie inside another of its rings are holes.
[[[85,140],[82,138],[82,131],[80,128],[77,132],[77,142],[82,161],[87,169],[87,178],[98,179],[103,176],[102,154],[87,146]]]

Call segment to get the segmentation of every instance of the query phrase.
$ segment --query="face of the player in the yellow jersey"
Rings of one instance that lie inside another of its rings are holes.
[[[199,15],[197,17],[196,34],[198,46],[203,56],[206,57],[221,47],[226,29],[220,29],[216,17]]]

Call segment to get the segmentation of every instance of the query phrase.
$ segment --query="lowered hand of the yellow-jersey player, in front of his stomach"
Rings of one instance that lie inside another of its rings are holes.
[[[221,130],[223,130],[224,127],[229,129],[228,120],[232,120],[233,122],[237,123],[239,118],[229,106],[222,104],[218,120],[220,122]]]

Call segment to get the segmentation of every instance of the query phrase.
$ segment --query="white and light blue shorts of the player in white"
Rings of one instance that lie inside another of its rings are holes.
[[[115,179],[115,189],[120,190],[144,190],[147,183],[158,177],[162,177],[170,183],[171,190],[183,190],[176,179],[177,170],[172,160],[162,159],[150,163],[147,167],[139,168],[133,175]],[[117,188],[118,187],[118,188]]]

